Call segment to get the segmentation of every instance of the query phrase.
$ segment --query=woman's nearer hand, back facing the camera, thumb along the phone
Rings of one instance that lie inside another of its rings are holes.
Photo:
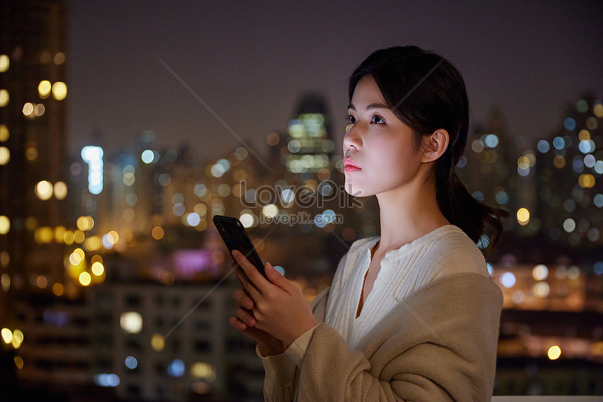
[[[245,325],[255,321],[254,328],[281,340],[285,347],[289,347],[299,335],[318,324],[310,304],[297,284],[280,275],[269,263],[264,265],[264,272],[268,277],[266,280],[243,254],[238,251],[233,251],[232,254],[239,265],[235,270],[236,277],[253,304],[250,305],[241,298],[242,303],[246,304],[243,307],[250,306],[248,314],[252,319],[245,315],[245,311],[237,310],[237,317],[239,314],[243,317],[240,321]]]

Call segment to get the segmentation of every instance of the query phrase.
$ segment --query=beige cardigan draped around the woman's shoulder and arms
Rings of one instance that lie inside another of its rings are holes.
[[[323,323],[329,290],[312,302]],[[266,401],[490,401],[503,303],[491,279],[459,273],[400,301],[358,349],[327,324],[312,334],[299,367],[264,360]]]

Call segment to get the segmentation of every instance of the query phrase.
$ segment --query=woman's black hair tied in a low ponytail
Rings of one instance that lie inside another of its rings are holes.
[[[438,129],[448,132],[448,148],[429,172],[429,176],[435,175],[438,207],[487,256],[499,240],[502,219],[508,212],[475,200],[454,172],[469,130],[469,101],[463,76],[449,60],[416,46],[381,49],[367,57],[350,76],[350,102],[358,81],[367,74],[373,76],[395,116],[412,128],[417,149],[424,135]],[[494,230],[490,236],[486,235],[487,224]]]

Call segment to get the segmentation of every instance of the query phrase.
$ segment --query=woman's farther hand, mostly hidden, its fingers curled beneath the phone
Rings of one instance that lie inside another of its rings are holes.
[[[262,356],[273,356],[285,352],[287,346],[283,341],[274,338],[269,333],[254,328],[255,318],[251,313],[253,300],[251,300],[247,293],[242,289],[237,289],[233,296],[234,300],[238,302],[239,307],[236,309],[236,317],[230,317],[228,321],[230,326],[248,338],[255,340]]]

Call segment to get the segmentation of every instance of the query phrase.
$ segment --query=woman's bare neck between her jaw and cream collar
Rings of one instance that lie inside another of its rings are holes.
[[[381,240],[377,253],[399,249],[404,244],[449,224],[435,199],[435,183],[400,187],[377,194]]]

